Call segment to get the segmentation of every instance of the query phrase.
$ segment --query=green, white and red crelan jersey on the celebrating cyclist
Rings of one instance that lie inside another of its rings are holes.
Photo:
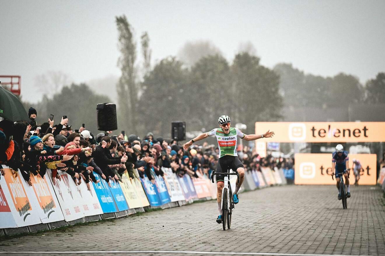
[[[209,132],[207,132],[208,136],[213,136],[218,140],[219,146],[219,158],[224,155],[233,155],[238,156],[237,154],[237,137],[243,139],[246,134],[241,132],[238,128],[230,127],[230,131],[228,134],[225,134],[222,128],[215,128]]]

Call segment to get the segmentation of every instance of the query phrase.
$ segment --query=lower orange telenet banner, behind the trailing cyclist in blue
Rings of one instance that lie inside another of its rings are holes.
[[[377,172],[376,154],[349,154],[349,165],[353,159],[361,163],[360,185],[375,185]],[[333,185],[331,179],[331,154],[295,154],[294,183],[298,185]],[[350,170],[350,184],[354,184],[353,170]]]

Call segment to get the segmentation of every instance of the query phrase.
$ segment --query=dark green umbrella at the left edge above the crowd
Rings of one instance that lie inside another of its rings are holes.
[[[2,86],[0,86],[0,117],[12,122],[29,120],[22,102]]]

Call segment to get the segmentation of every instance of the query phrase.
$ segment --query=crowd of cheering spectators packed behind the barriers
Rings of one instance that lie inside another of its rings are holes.
[[[131,134],[112,135],[112,132],[92,134],[85,127],[73,130],[66,116],[59,123],[48,119],[38,126],[37,111],[30,108],[28,122],[0,121],[0,164],[10,167],[15,177],[20,169],[23,178],[32,186],[32,175],[43,177],[51,169],[53,182],[61,179],[57,170],[67,172],[80,184],[84,181],[90,189],[90,181],[98,183],[98,173],[110,186],[111,180],[121,180],[124,172],[131,179],[144,177],[155,181],[155,175],[164,175],[162,167],[171,168],[182,177],[209,177],[216,169],[218,147],[192,145],[184,150],[176,140],[154,137],[149,132],[144,138]],[[243,147],[238,152],[246,170],[261,171],[261,167],[293,168],[293,159],[277,159],[268,155],[261,158]],[[0,166],[1,167],[1,166]],[[0,168],[1,175],[5,172]],[[0,175],[0,178],[1,178]]]

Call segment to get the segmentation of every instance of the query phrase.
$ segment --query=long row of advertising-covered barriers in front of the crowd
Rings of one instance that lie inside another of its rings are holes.
[[[40,230],[55,228],[49,223],[63,222],[63,225],[90,220],[100,220],[103,214],[128,213],[131,209],[143,207],[167,206],[170,202],[185,204],[196,199],[216,199],[216,183],[211,183],[208,177],[191,178],[185,174],[179,177],[171,168],[162,168],[164,177],[151,174],[153,180],[130,178],[124,173],[122,182],[111,180],[110,186],[97,173],[94,173],[97,183],[74,179],[66,172],[57,171],[60,178],[52,178],[52,172],[47,169],[43,178],[30,175],[32,186],[11,169],[2,165],[5,175],[0,179],[0,229],[2,234],[15,234],[37,231],[32,227],[45,225]],[[269,168],[264,170],[269,175],[270,184],[279,183],[274,180]],[[264,184],[264,174],[255,170],[245,175],[246,183],[252,183],[253,188]],[[278,180],[278,179],[277,179]],[[232,189],[235,189],[236,176],[230,179]],[[135,211],[133,211],[135,212]],[[127,214],[126,214],[127,215]],[[109,215],[110,216],[110,215]],[[119,215],[124,216],[124,215]],[[95,217],[87,220],[87,217]],[[18,230],[20,229],[20,230]],[[18,230],[17,232],[15,230]],[[13,232],[13,233],[12,233]]]

